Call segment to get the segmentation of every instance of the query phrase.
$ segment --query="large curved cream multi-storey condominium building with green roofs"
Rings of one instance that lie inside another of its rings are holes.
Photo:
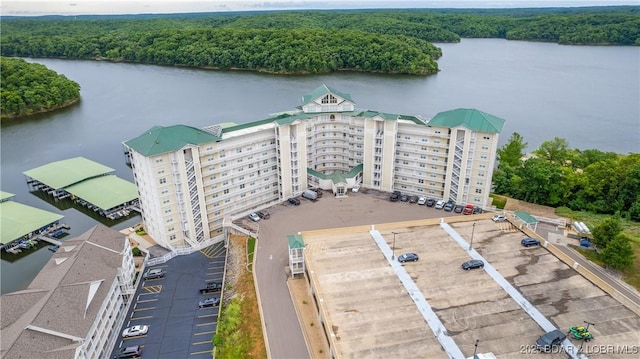
[[[361,185],[486,206],[503,125],[473,109],[429,121],[359,110],[323,85],[261,121],[155,126],[124,145],[147,232],[172,248],[222,239],[223,218],[309,187],[343,196]]]

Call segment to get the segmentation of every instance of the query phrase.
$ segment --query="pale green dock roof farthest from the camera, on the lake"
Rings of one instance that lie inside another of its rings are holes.
[[[113,172],[114,169],[84,157],[56,161],[23,172],[54,189],[61,189],[88,178]]]

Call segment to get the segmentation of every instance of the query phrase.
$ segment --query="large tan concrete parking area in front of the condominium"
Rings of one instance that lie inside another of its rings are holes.
[[[572,339],[589,357],[612,357],[614,351],[616,358],[635,357],[639,350],[640,320],[637,315],[546,249],[522,247],[520,240],[524,235],[509,222],[493,222],[491,214],[463,216],[417,204],[389,202],[388,194],[375,191],[350,194],[349,198],[343,199],[325,196],[317,202],[303,200],[300,206],[281,205],[269,211],[271,219],[260,222],[257,275],[261,297],[267,297],[267,290],[263,289],[267,286],[263,283],[270,284],[268,299],[263,299],[263,309],[266,308],[266,327],[274,357],[287,357],[278,354],[291,353],[287,352],[286,346],[289,343],[289,348],[292,347],[294,335],[281,334],[291,332],[295,324],[284,329],[275,327],[270,321],[275,319],[271,316],[276,315],[278,321],[284,322],[288,315],[284,305],[288,298],[278,298],[281,290],[278,285],[286,280],[284,238],[298,232],[302,232],[309,252],[333,253],[335,256],[321,256],[318,258],[321,264],[312,265],[319,266],[317,270],[313,269],[318,276],[322,270],[327,271],[324,280],[328,280],[328,284],[321,284],[322,302],[330,308],[327,310],[330,315],[341,319],[335,324],[335,330],[341,334],[336,335],[344,347],[349,349],[346,353],[378,353],[381,349],[376,346],[408,350],[402,355],[431,350],[425,348],[432,348],[433,334],[420,334],[423,330],[430,331],[424,321],[417,326],[411,324],[408,318],[419,314],[410,312],[411,306],[406,306],[406,291],[389,271],[379,250],[372,246],[368,233],[372,224],[380,230],[389,247],[394,242],[392,232],[396,232],[396,255],[404,252],[420,254],[418,262],[407,263],[405,268],[465,355],[473,354],[476,340],[480,341],[479,352],[494,352],[500,358],[536,354],[534,344],[544,334],[542,328],[484,270],[464,271],[460,268],[470,257],[440,229],[440,218],[450,222],[466,241],[473,237],[473,248],[561,330],[566,332],[569,326],[586,325],[585,321],[598,323],[589,328],[595,336],[593,341],[583,343]],[[449,217],[452,218],[447,219]],[[414,222],[395,223],[425,218],[435,221],[427,226]],[[457,222],[456,218],[462,221]],[[354,225],[363,227],[362,233],[356,233],[352,238],[354,233],[347,227]],[[307,241],[309,233],[305,231],[321,228],[333,229],[320,230],[318,232],[324,232],[324,235],[318,234],[317,240]],[[332,296],[335,296],[334,303]],[[382,321],[376,322],[376,318],[382,318]],[[406,327],[402,329],[399,323],[405,321]],[[305,321],[301,319],[301,322]],[[376,330],[381,333],[376,334]],[[361,333],[370,335],[357,337]],[[356,337],[350,337],[353,335]],[[416,337],[422,342],[411,339]],[[280,352],[276,352],[276,346]],[[435,347],[439,348],[439,344]],[[415,348],[419,349],[416,351]],[[380,353],[389,354],[384,350]],[[444,356],[443,352],[439,353],[434,353],[433,357]],[[545,357],[566,358],[567,354],[549,353]]]

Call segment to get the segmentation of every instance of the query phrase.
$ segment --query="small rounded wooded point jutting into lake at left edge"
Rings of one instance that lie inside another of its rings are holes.
[[[16,118],[77,102],[80,85],[41,64],[0,57],[0,116]]]

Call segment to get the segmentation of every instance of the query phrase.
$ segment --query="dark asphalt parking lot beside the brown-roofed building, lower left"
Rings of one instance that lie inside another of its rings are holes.
[[[207,282],[222,281],[225,256],[223,243],[218,243],[152,267],[162,269],[164,277],[141,278],[121,328],[122,332],[146,325],[148,333],[118,340],[112,357],[120,348],[140,345],[143,358],[210,359],[219,307],[199,308],[198,304],[206,298],[219,298],[221,293],[200,294],[200,288]]]

